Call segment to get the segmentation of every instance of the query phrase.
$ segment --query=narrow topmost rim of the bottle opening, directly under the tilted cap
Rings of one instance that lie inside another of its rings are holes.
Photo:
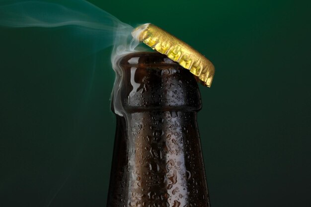
[[[157,65],[163,66],[175,66],[182,68],[178,63],[167,58],[166,55],[158,52],[135,52],[130,53],[122,57],[119,61],[121,67],[156,67]]]

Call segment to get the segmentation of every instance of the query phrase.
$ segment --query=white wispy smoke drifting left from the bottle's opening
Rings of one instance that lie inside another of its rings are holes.
[[[81,35],[92,43],[92,51],[87,53],[113,47],[111,63],[116,72],[113,93],[117,93],[122,81],[118,60],[128,53],[146,50],[137,47],[139,41],[131,35],[132,26],[86,0],[0,1],[0,27],[66,26],[75,30],[74,35]],[[115,112],[122,116],[119,109],[115,108]]]

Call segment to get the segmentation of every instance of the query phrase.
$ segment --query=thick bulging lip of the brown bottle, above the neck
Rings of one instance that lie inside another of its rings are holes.
[[[201,109],[194,75],[165,55],[157,52],[131,53],[121,58],[120,69],[122,83],[117,104],[122,114]]]

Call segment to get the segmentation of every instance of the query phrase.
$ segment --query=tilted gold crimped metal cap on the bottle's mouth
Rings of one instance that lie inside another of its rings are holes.
[[[213,64],[188,44],[150,23],[135,28],[132,36],[189,69],[198,81],[211,87],[215,73]]]

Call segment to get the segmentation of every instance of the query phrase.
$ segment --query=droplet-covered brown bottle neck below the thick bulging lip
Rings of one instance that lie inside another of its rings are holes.
[[[120,176],[114,187],[122,186],[115,194],[122,198],[117,200],[130,207],[142,203],[208,207],[196,111],[135,112],[126,119],[117,117],[118,129],[126,129],[116,134],[119,164],[115,167],[122,172],[114,172]]]

